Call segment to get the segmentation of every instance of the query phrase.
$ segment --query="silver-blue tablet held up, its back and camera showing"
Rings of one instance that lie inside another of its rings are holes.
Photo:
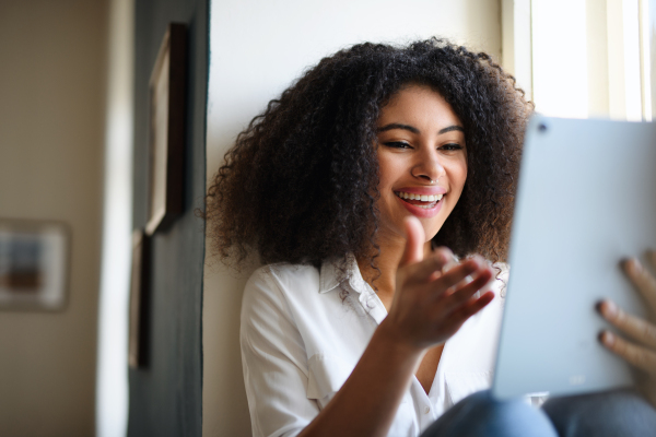
[[[619,262],[656,249],[654,123],[534,116],[518,182],[493,395],[632,385],[595,305],[646,315]]]

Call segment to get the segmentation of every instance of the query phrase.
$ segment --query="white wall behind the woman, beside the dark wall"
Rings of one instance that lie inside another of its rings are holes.
[[[303,70],[360,42],[445,36],[501,58],[499,0],[215,0],[210,20],[208,176],[237,133]],[[208,245],[211,241],[208,240]],[[208,256],[210,248],[208,247]],[[203,435],[250,433],[239,357],[241,275],[204,276]]]

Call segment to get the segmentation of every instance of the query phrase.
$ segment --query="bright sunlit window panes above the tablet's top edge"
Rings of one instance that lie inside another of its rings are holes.
[[[532,0],[536,109],[651,120],[649,0]]]

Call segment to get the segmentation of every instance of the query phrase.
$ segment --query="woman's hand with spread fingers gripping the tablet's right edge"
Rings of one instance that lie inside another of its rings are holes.
[[[649,262],[656,267],[656,252],[648,253]],[[641,389],[652,405],[656,408],[656,279],[640,261],[632,258],[623,263],[623,269],[633,285],[647,303],[652,320],[645,320],[625,312],[610,300],[599,305],[599,311],[606,320],[618,328],[630,340],[610,331],[601,333],[601,343],[626,362],[644,371]]]

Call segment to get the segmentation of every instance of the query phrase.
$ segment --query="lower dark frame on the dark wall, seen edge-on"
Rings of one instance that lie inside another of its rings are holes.
[[[150,238],[142,229],[132,233],[128,364],[145,367],[150,326]]]

